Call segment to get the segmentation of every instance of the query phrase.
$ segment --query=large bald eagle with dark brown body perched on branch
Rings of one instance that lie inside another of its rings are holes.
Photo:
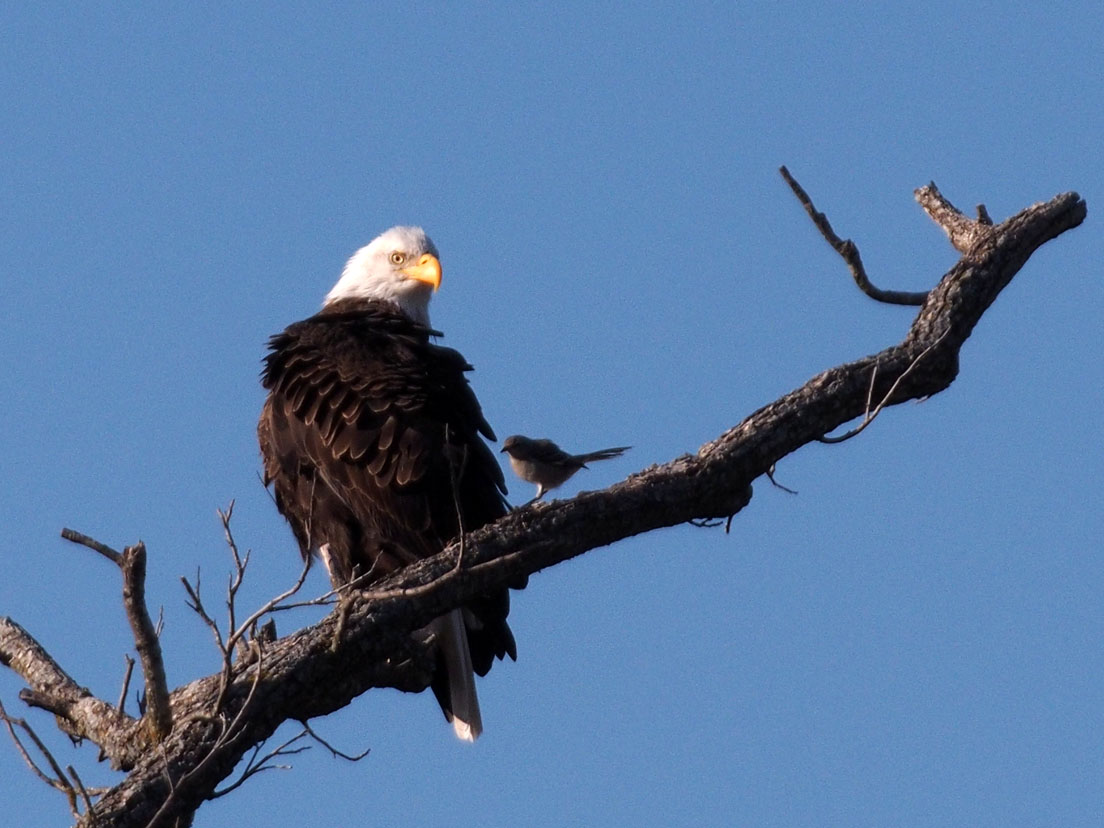
[[[369,586],[507,511],[471,365],[429,341],[440,273],[421,227],[392,227],[349,259],[318,314],[268,342],[265,485],[335,587]],[[482,730],[473,673],[517,659],[508,613],[502,588],[427,628],[434,694],[466,741]]]

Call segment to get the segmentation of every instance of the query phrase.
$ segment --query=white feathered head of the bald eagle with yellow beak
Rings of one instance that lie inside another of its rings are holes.
[[[428,327],[429,297],[438,287],[440,261],[429,236],[421,227],[392,227],[352,255],[325,305],[383,299]]]

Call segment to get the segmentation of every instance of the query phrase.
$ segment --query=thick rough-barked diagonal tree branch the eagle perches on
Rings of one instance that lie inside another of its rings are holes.
[[[326,715],[374,687],[425,689],[432,657],[411,631],[432,618],[588,550],[661,527],[731,518],[749,502],[752,481],[789,453],[857,417],[869,418],[879,403],[943,391],[957,374],[962,344],[1000,290],[1038,247],[1086,214],[1076,193],[997,225],[984,209],[978,220],[965,216],[934,185],[917,190],[916,199],[963,255],[923,299],[901,342],[814,376],[696,454],[603,491],[519,509],[344,602],[317,625],[255,644],[227,676],[209,676],[172,692],[172,730],[159,742],[149,728],[93,699],[21,627],[0,619],[0,662],[23,676],[30,686],[25,698],[55,712],[66,732],[102,745],[114,765],[129,772],[78,825],[191,824],[217,784],[280,723]],[[850,247],[840,251],[845,245]],[[853,248],[849,241],[834,246],[845,259]],[[854,256],[858,262],[857,251]]]

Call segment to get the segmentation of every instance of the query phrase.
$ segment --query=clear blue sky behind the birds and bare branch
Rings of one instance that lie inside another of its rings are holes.
[[[141,538],[170,681],[214,671],[179,576],[217,603],[215,509],[244,602],[298,572],[257,479],[264,342],[392,224],[440,248],[433,321],[500,436],[634,446],[570,495],[902,337],[779,164],[899,289],[955,261],[915,187],[998,220],[1078,190],[947,392],[786,458],[799,493],[756,484],[728,535],[534,577],[476,746],[369,693],[316,722],[369,758],[299,756],[198,825],[1100,824],[1102,35],[1089,2],[4,9],[0,613],[114,699],[117,574],[57,532]],[[67,819],[7,745],[0,808]]]

